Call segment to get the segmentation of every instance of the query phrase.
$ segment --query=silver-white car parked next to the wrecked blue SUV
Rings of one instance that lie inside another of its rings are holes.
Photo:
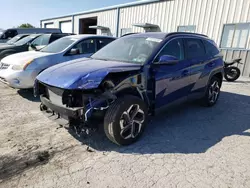
[[[0,81],[13,88],[32,88],[36,76],[46,68],[90,57],[113,40],[114,37],[108,36],[72,35],[58,39],[40,51],[10,55],[1,60]]]

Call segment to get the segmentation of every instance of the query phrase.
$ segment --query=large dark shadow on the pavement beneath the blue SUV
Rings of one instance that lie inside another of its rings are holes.
[[[83,144],[97,151],[120,153],[204,153],[232,135],[250,136],[250,96],[222,92],[218,104],[211,108],[184,104],[151,117],[141,139],[130,146],[119,147],[99,131]]]

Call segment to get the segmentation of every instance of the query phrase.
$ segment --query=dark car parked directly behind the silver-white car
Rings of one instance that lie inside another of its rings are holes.
[[[56,39],[59,39],[64,36],[68,36],[70,34],[62,34],[62,33],[56,33],[56,34],[32,34],[27,37],[24,37],[23,39],[15,42],[14,44],[5,44],[0,45],[0,60],[4,57],[7,57],[9,55],[19,53],[19,52],[25,52],[29,50],[39,50],[42,47],[50,44],[51,42],[55,41]],[[53,37],[52,37],[53,36]],[[54,37],[55,36],[55,37]]]

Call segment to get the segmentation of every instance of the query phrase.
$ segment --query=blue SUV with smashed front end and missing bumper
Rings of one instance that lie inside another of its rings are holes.
[[[35,84],[41,110],[59,114],[77,130],[98,118],[118,145],[135,142],[148,115],[199,99],[216,104],[223,59],[214,41],[194,33],[143,33],[121,37],[90,59],[42,72]]]

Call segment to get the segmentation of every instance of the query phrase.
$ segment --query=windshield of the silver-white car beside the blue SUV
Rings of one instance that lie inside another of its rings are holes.
[[[77,39],[70,38],[70,37],[63,37],[55,42],[52,42],[42,50],[41,52],[48,52],[48,53],[59,53],[68,48],[71,44],[73,44]]]

